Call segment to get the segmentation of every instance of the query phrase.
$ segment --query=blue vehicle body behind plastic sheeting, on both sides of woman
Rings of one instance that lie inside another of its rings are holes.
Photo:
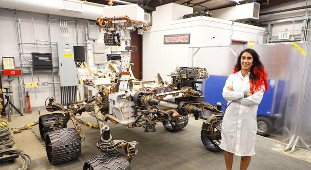
[[[224,104],[227,104],[227,102],[225,101],[222,95],[226,80],[227,80],[227,76],[209,75],[209,78],[204,82],[203,91],[205,95],[205,102],[208,102],[210,104],[216,104],[217,102],[222,102]],[[271,82],[271,80],[268,79],[269,92],[265,92],[263,95],[262,101],[258,107],[258,112],[257,112],[258,116],[260,115],[260,116],[270,117],[273,115],[271,114],[271,109],[272,109],[272,103],[273,103],[273,96],[276,91],[275,86],[282,85],[282,84],[277,84],[276,81],[277,80],[272,80]],[[272,85],[270,85],[270,83],[272,83]],[[279,91],[279,89],[277,89],[277,91]]]

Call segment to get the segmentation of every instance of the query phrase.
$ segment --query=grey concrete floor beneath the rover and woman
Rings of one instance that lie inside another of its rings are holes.
[[[41,115],[47,113],[51,112],[43,111]],[[95,123],[95,119],[87,114],[83,114],[82,119]],[[20,127],[36,120],[38,120],[37,113],[13,117],[9,126]],[[155,133],[148,134],[145,134],[142,128],[126,129],[111,122],[108,124],[114,139],[139,142],[138,155],[131,162],[133,170],[225,170],[223,152],[209,152],[201,142],[202,120],[190,118],[186,128],[174,133],[167,132],[161,123],[156,125]],[[68,127],[73,127],[71,121],[68,122]],[[40,136],[38,125],[33,127],[33,132],[25,130],[13,135],[14,147],[31,156],[31,170],[81,170],[87,159],[102,154],[96,148],[98,129],[83,126],[86,140],[81,142],[81,156],[67,163],[51,165],[42,145],[43,140],[38,140],[34,133]],[[289,154],[283,149],[283,145],[257,136],[256,155],[252,157],[248,170],[311,170],[311,153],[298,150]],[[239,163],[240,157],[235,156],[233,170],[239,170]],[[17,159],[14,164],[0,164],[0,170],[17,170],[20,165],[21,159]]]

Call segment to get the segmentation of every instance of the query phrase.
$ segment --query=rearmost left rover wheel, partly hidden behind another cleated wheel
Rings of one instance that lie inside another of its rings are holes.
[[[39,117],[39,131],[43,140],[46,133],[64,128],[67,128],[67,120],[62,113],[52,113]]]

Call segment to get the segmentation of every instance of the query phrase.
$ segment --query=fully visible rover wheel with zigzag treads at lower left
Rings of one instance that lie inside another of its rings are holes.
[[[80,156],[80,136],[73,128],[48,132],[45,147],[51,164],[67,162]]]

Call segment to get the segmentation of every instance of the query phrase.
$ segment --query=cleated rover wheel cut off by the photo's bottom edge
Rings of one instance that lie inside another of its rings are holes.
[[[83,170],[132,170],[123,153],[105,153],[87,160]]]

